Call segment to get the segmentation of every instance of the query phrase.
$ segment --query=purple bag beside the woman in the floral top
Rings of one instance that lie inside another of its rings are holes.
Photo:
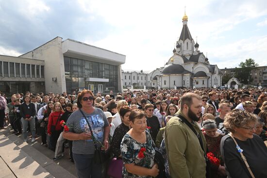
[[[109,162],[108,172],[107,172],[108,176],[112,178],[122,178],[122,167],[123,167],[122,159],[113,158]]]

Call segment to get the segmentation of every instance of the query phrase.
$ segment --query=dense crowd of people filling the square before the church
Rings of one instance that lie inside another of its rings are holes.
[[[9,124],[79,178],[267,177],[267,89],[26,92],[0,97]]]

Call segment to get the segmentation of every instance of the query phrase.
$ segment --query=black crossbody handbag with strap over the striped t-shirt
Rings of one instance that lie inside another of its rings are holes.
[[[83,117],[84,117],[85,121],[88,124],[88,127],[90,129],[91,135],[94,136],[92,128],[91,128],[91,125],[88,122],[88,120],[86,119],[86,117],[85,117],[85,115],[84,115],[84,113],[82,112],[81,109],[80,109],[80,112],[83,114]],[[95,142],[95,140],[93,140],[93,142],[94,142],[94,146],[95,146],[95,152],[94,152],[94,158],[93,158],[94,162],[96,164],[101,164],[101,163],[103,163],[103,162],[105,162],[107,160],[108,154],[106,154],[106,152],[104,150],[101,150],[101,148],[97,147],[97,143]]]

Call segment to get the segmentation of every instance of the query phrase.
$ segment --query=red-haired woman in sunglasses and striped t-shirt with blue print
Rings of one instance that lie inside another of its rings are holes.
[[[78,95],[77,105],[80,110],[69,116],[63,137],[73,140],[72,154],[78,177],[101,178],[101,164],[93,159],[94,143],[98,149],[108,149],[110,126],[103,111],[93,107],[94,95],[90,90],[83,90]]]

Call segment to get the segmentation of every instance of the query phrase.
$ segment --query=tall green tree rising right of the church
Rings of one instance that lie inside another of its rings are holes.
[[[239,67],[235,68],[235,77],[244,84],[249,84],[253,81],[251,71],[258,66],[254,59],[246,59],[245,62],[241,62]]]

